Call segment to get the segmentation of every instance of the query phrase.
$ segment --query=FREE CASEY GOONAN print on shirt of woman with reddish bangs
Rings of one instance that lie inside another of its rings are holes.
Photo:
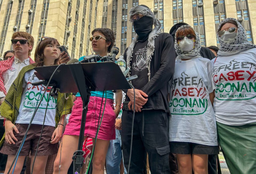
[[[201,77],[190,77],[182,72],[180,77],[173,80],[171,88],[171,114],[200,115],[207,110],[209,94]]]

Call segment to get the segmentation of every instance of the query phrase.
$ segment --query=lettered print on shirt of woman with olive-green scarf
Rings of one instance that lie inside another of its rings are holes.
[[[39,101],[42,99],[43,92],[46,90],[46,93],[43,96],[43,100],[42,100],[39,108],[46,109],[47,102],[49,99],[47,109],[55,109],[57,106],[57,99],[53,98],[52,96],[50,96],[50,98],[49,98],[49,95],[50,95],[49,92],[51,91],[51,87],[48,87],[46,89],[46,87],[43,85],[33,86],[32,82],[34,82],[34,81],[38,81],[35,74],[30,76],[27,80],[25,102],[23,103],[23,107],[36,108]],[[42,90],[41,90],[41,88],[42,88]]]

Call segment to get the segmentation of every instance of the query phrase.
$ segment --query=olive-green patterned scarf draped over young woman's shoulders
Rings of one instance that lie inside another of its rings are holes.
[[[11,85],[5,101],[2,103],[0,107],[1,116],[11,120],[13,124],[15,124],[15,121],[17,119],[17,116],[19,114],[19,107],[21,105],[21,96],[22,96],[22,84],[23,79],[27,71],[33,70],[34,65],[28,65],[22,68],[22,70],[19,72],[18,77],[14,80],[13,84]],[[73,107],[73,100],[71,93],[62,94],[58,92],[58,98],[57,98],[57,107],[56,107],[56,115],[55,115],[55,122],[56,127],[58,126],[59,119],[62,115],[70,114],[71,109]],[[0,147],[3,144],[5,140],[5,134],[2,137],[2,140],[0,141]]]

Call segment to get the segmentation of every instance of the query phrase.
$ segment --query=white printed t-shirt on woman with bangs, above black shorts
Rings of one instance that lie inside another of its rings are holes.
[[[213,92],[213,63],[206,58],[176,60],[169,83],[169,141],[218,145],[209,93]]]

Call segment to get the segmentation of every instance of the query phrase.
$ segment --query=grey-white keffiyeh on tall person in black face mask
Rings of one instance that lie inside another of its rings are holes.
[[[129,16],[133,16],[138,13],[142,14],[144,16],[153,18],[154,26],[155,26],[155,28],[149,34],[149,38],[148,38],[149,42],[147,43],[146,64],[147,64],[147,69],[149,71],[147,75],[149,76],[149,80],[150,80],[150,62],[151,62],[152,55],[155,50],[155,38],[161,33],[162,25],[161,25],[160,21],[157,18],[155,18],[153,12],[150,9],[143,7],[143,6],[135,6],[135,7],[131,8],[131,10],[129,11]],[[131,69],[130,61],[131,61],[131,57],[133,54],[133,48],[137,42],[138,42],[138,35],[136,34],[134,36],[132,43],[130,44],[130,46],[128,47],[128,49],[126,51],[127,67],[129,67],[130,69]],[[128,76],[130,76],[130,75],[131,75],[131,70],[130,70]]]

